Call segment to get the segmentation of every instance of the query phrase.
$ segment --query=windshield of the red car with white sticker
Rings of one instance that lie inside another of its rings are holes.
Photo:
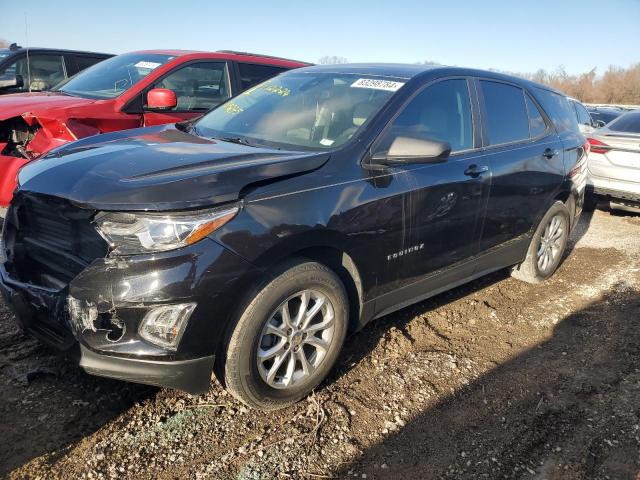
[[[84,98],[115,98],[173,58],[156,53],[125,53],[83,70],[53,91]]]

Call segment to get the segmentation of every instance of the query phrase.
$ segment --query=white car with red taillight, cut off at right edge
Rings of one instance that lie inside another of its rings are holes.
[[[627,112],[589,136],[586,205],[640,207],[640,110]]]

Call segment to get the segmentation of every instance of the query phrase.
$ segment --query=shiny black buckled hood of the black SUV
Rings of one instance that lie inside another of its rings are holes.
[[[233,201],[257,182],[298,175],[329,156],[206,139],[162,125],[99,135],[25,166],[19,190],[99,210],[178,210]]]

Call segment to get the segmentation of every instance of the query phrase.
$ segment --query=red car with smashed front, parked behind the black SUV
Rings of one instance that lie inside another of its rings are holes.
[[[308,63],[233,51],[125,53],[49,92],[0,97],[0,206],[18,170],[78,138],[202,115],[229,97]]]

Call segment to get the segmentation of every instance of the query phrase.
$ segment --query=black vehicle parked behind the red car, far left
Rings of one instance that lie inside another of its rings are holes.
[[[112,57],[108,53],[29,48],[0,48],[0,95],[49,90],[76,73]],[[27,59],[29,63],[27,65]]]

